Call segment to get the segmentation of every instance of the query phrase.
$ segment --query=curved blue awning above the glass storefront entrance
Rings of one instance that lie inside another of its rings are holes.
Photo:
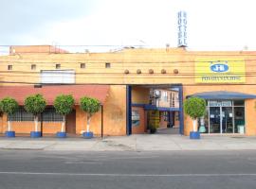
[[[244,94],[238,92],[227,91],[215,91],[215,92],[203,92],[198,94],[188,95],[188,97],[197,96],[204,99],[251,99],[256,98],[255,94]]]

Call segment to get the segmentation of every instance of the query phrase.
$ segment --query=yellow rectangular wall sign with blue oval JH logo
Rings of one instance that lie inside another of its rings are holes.
[[[245,60],[235,58],[196,59],[194,66],[196,83],[246,82]]]

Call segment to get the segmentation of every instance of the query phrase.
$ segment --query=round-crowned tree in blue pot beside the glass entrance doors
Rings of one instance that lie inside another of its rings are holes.
[[[197,131],[197,119],[205,114],[206,101],[199,97],[190,97],[184,102],[184,111],[192,118],[191,139],[200,139],[200,132]]]

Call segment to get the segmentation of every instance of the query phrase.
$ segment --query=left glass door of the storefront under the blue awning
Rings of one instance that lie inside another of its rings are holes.
[[[220,133],[220,107],[210,107],[210,133]]]

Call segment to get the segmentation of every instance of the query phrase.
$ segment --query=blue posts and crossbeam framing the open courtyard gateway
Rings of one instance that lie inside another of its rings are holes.
[[[132,134],[132,106],[135,107],[144,107],[145,110],[159,110],[159,111],[178,111],[179,116],[179,134],[184,134],[184,112],[183,112],[183,86],[182,85],[174,85],[175,88],[178,89],[178,101],[179,108],[164,108],[166,110],[162,110],[163,108],[157,108],[152,105],[146,104],[132,104],[132,86],[126,85],[126,134]]]

